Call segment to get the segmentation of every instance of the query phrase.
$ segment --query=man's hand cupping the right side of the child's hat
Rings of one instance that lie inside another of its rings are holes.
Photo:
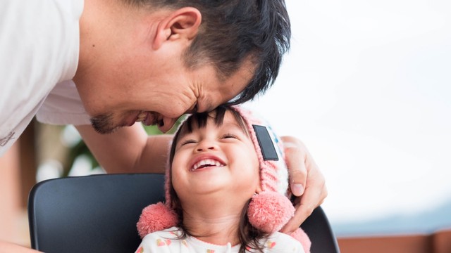
[[[291,234],[321,205],[327,196],[326,182],[309,150],[292,136],[281,137],[290,174],[290,188],[295,200],[295,216],[280,230]]]

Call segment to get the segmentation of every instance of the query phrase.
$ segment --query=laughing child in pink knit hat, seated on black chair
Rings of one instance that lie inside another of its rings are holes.
[[[188,117],[173,139],[166,203],[144,208],[137,223],[137,252],[309,252],[300,228],[277,232],[294,215],[279,145],[242,108]]]

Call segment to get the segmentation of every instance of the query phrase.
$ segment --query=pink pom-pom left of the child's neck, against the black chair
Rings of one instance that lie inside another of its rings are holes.
[[[158,202],[142,209],[140,220],[136,226],[140,237],[144,238],[149,233],[171,228],[177,223],[177,214],[162,202]]]

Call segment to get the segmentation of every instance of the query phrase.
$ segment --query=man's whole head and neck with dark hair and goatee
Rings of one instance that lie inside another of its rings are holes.
[[[91,15],[98,30],[80,21],[74,81],[102,133],[140,120],[167,131],[185,112],[250,100],[273,84],[290,46],[282,0],[118,3]]]

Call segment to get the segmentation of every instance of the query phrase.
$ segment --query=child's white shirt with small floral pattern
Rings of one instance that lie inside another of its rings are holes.
[[[214,245],[194,237],[178,239],[180,231],[176,227],[146,235],[135,253],[234,253],[240,245]],[[264,253],[304,253],[299,241],[284,233],[273,233],[264,243]],[[246,252],[255,252],[248,249]]]

